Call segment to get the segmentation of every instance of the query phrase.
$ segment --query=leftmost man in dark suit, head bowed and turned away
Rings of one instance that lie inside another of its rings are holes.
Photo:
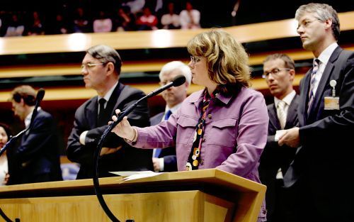
[[[25,127],[33,125],[21,139],[21,145],[12,152],[16,173],[10,175],[11,184],[27,184],[62,180],[57,146],[57,126],[50,113],[35,109],[36,92],[30,86],[20,86],[11,92],[12,110],[15,116],[25,122]]]

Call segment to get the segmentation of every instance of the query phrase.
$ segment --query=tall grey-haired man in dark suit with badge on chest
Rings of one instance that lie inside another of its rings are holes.
[[[279,144],[297,148],[284,177],[295,192],[297,221],[353,221],[354,53],[337,44],[339,21],[327,4],[297,9],[297,33],[314,54],[300,83],[299,128]]]

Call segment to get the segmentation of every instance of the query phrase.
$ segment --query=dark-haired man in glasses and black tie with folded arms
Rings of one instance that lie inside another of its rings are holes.
[[[144,93],[120,83],[122,60],[113,48],[96,45],[86,51],[81,73],[86,88],[95,89],[98,96],[86,101],[75,113],[74,128],[69,135],[67,157],[80,166],[76,179],[93,177],[93,152],[99,138],[108,128],[115,109],[125,110]],[[128,116],[134,126],[149,126],[147,101],[142,101]],[[99,177],[110,177],[110,171],[152,170],[152,151],[132,148],[115,133],[103,144]]]

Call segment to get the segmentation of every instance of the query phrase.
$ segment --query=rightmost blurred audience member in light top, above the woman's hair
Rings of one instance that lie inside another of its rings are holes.
[[[190,1],[185,3],[185,10],[179,14],[182,29],[200,28],[200,11],[193,9]]]

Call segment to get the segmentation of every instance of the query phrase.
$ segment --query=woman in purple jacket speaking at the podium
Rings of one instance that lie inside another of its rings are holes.
[[[188,96],[168,121],[137,128],[125,117],[113,132],[137,148],[176,145],[179,171],[217,168],[259,183],[268,112],[263,95],[249,89],[248,55],[232,35],[216,29],[196,35],[187,48],[192,81],[205,89]]]

